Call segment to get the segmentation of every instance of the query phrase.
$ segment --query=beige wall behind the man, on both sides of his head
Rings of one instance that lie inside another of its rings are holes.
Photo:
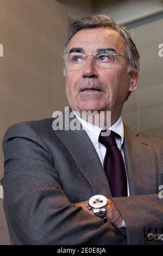
[[[60,1],[62,2],[62,1]],[[64,1],[65,2],[65,1]],[[0,0],[0,143],[8,126],[52,117],[67,106],[61,53],[67,11],[55,0]],[[126,124],[163,137],[163,57],[158,56],[163,19],[131,29],[141,57],[140,82],[123,109]],[[0,150],[0,178],[3,155]],[[0,245],[9,236],[0,199]]]

